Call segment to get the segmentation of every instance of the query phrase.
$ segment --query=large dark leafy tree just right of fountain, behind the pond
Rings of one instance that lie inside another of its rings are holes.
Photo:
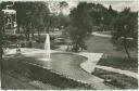
[[[80,2],[77,8],[71,11],[71,30],[68,34],[75,51],[85,47],[85,38],[91,32],[91,3]]]

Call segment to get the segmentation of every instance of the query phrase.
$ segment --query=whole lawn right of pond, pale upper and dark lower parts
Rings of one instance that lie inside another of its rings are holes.
[[[104,53],[104,56],[106,55],[106,57],[99,61],[99,65],[138,72],[138,50],[130,51],[132,61],[127,61],[127,55],[124,52],[114,50],[115,48],[110,42],[110,38],[90,36],[86,44],[88,52]]]

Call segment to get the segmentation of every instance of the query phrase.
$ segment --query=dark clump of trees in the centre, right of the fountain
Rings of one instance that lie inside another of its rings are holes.
[[[70,25],[66,28],[74,49],[85,48],[85,40],[98,27],[100,30],[110,30],[117,11],[110,5],[109,9],[102,4],[80,2],[70,13]],[[94,27],[96,26],[96,27]]]

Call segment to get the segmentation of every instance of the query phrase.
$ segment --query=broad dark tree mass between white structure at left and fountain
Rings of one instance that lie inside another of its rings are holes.
[[[42,27],[47,27],[49,18],[49,9],[43,2],[15,2],[14,9],[17,12],[17,27],[24,28],[26,39],[29,40],[29,34],[34,37],[34,30],[40,34]]]

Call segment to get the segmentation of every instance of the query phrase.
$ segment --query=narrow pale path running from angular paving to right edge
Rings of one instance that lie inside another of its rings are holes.
[[[104,69],[104,70],[117,73],[117,74],[123,74],[123,75],[126,75],[126,76],[134,77],[134,78],[138,79],[138,74],[132,73],[132,72],[122,70],[122,69],[118,69],[118,68],[113,68],[113,67],[108,67],[108,66],[101,66],[101,65],[97,65],[96,67],[97,68]]]

